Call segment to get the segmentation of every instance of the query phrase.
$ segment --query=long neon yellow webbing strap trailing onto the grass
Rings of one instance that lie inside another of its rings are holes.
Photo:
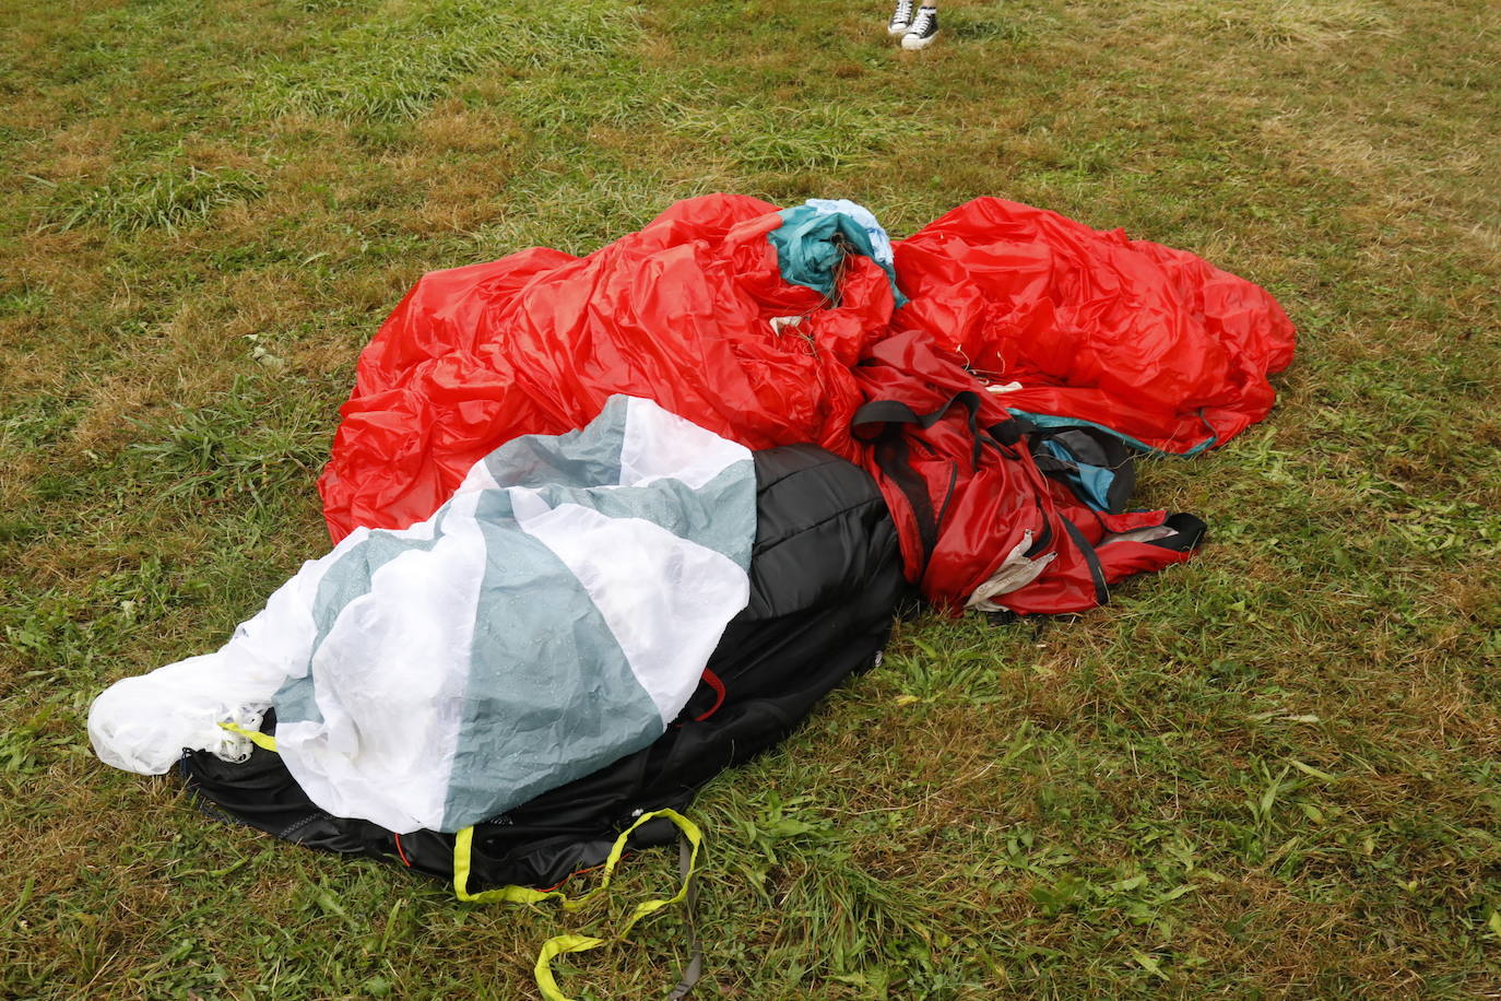
[[[698,870],[698,849],[704,842],[704,834],[698,830],[698,825],[693,821],[687,819],[677,810],[653,810],[651,813],[642,813],[638,816],[636,822],[627,827],[609,848],[609,855],[605,858],[605,873],[600,876],[599,885],[576,899],[570,899],[567,894],[557,890],[533,890],[531,887],[498,887],[495,890],[470,893],[470,852],[474,845],[474,828],[465,827],[458,833],[458,837],[453,839],[453,894],[461,900],[468,900],[470,903],[537,903],[539,900],[555,899],[561,903],[564,911],[576,911],[609,888],[609,879],[615,873],[615,866],[620,864],[620,855],[626,851],[626,839],[630,837],[630,831],[657,816],[672,821],[672,824],[683,833],[687,843],[692,845],[692,851],[687,854],[687,863],[683,870],[683,884],[677,888],[677,893],[669,897],[642,900],[638,903],[630,912],[630,917],[627,917],[624,924],[621,924],[620,933],[615,935],[614,939],[624,941],[626,935],[630,933],[630,929],[635,927],[636,921],[654,911],[678,903],[684,896],[687,896],[687,888],[693,882],[693,873]],[[606,944],[609,944],[606,939],[588,935],[557,935],[545,941],[542,944],[542,951],[537,953],[537,965],[534,969],[537,987],[542,989],[542,996],[546,998],[546,1001],[569,1001],[569,998],[558,989],[557,980],[552,978],[551,963],[554,957],[561,956],[563,953],[582,953]]]

